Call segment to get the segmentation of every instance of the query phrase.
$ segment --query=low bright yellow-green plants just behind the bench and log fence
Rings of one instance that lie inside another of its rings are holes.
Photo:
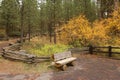
[[[71,46],[63,44],[25,43],[24,45],[24,49],[37,56],[50,56],[71,48]]]

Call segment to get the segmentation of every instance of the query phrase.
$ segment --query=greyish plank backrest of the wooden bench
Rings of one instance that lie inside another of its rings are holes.
[[[65,58],[69,58],[69,57],[72,57],[71,51],[57,53],[57,54],[54,54],[54,61],[63,60]]]

